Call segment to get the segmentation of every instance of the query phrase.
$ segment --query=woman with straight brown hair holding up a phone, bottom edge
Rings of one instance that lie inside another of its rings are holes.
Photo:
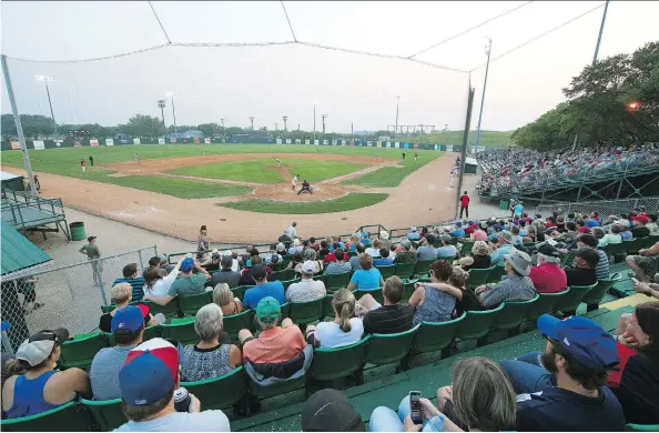
[[[452,369],[452,385],[437,390],[437,407],[420,399],[423,425],[409,415],[409,396],[398,405],[398,413],[376,407],[369,421],[371,432],[501,432],[515,425],[515,391],[506,373],[487,358],[467,358]]]

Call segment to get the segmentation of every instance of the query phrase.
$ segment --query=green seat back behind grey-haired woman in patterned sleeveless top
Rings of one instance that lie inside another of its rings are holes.
[[[190,393],[194,394],[204,411],[231,407],[245,396],[247,392],[247,374],[245,367],[240,365],[224,375],[205,379],[197,382],[181,382]]]

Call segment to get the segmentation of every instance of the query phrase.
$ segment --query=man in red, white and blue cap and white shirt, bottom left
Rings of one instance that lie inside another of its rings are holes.
[[[187,412],[176,412],[174,391],[179,389],[179,351],[163,339],[151,339],[128,353],[119,372],[121,410],[129,422],[115,432],[183,431],[229,432],[222,411],[201,412],[201,403],[190,394]]]

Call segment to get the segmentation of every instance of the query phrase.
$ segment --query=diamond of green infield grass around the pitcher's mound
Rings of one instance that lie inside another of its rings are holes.
[[[310,182],[318,182],[368,167],[343,161],[320,161],[285,157],[280,159],[284,165],[290,167],[287,171],[291,175],[287,179],[284,179],[276,170],[266,169],[266,167],[276,165],[276,162],[273,159],[226,161],[202,165],[190,165],[171,170],[169,173],[272,184],[290,181],[293,178],[293,173],[300,174],[301,181],[306,179]]]

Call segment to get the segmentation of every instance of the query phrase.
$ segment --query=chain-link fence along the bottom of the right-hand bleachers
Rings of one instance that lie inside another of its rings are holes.
[[[629,213],[635,208],[646,207],[648,213],[657,213],[659,211],[659,197],[646,197],[623,200],[598,200],[584,201],[580,203],[551,203],[540,204],[536,209],[539,213],[546,215],[551,212],[589,214],[590,212],[599,213],[600,218],[606,219],[608,215],[619,215],[621,213]]]

